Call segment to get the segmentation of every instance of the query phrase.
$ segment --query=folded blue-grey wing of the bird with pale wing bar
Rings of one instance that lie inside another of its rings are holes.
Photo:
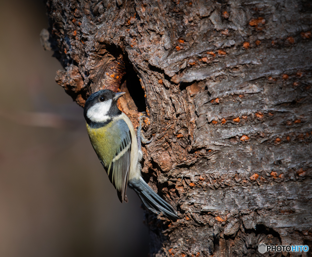
[[[111,136],[114,137],[115,145],[111,150],[114,153],[111,155],[113,158],[107,163],[105,170],[107,171],[110,182],[117,190],[119,200],[121,202],[128,202],[126,190],[131,160],[131,133],[123,119],[116,121],[112,129],[114,129],[114,131],[112,131]]]

